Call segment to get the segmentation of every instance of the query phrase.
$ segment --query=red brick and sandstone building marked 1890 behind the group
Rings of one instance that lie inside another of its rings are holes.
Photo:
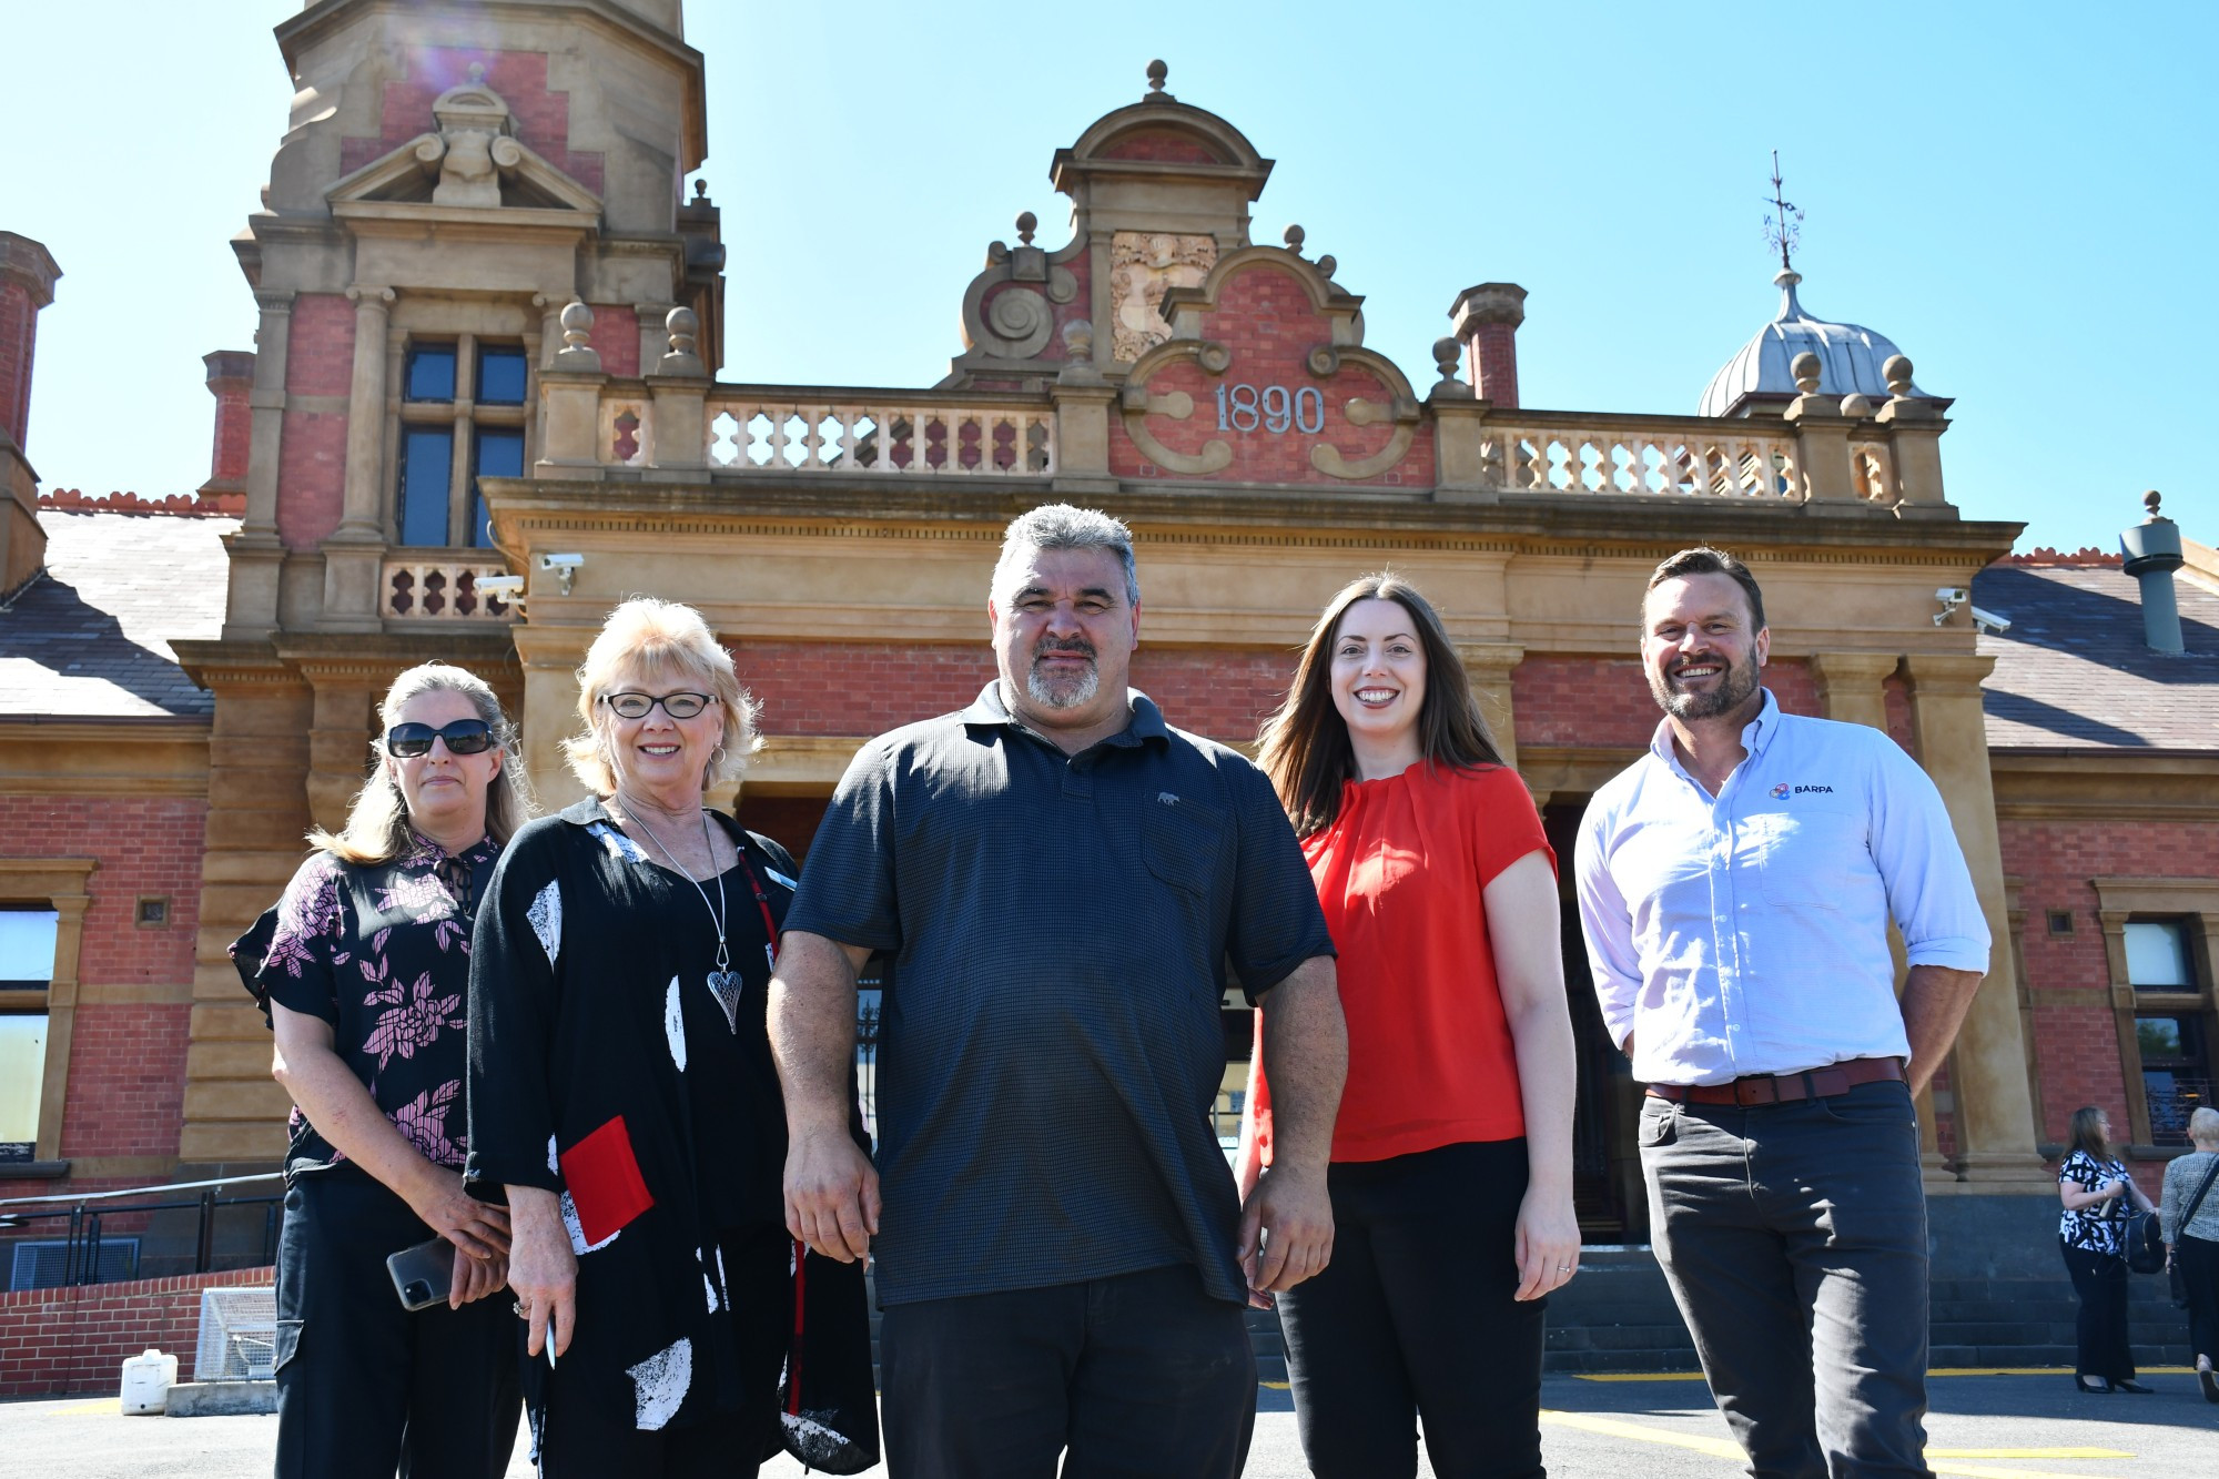
[[[2210,1079],[2219,566],[2188,542],[2188,651],[2146,657],[2128,575],[2013,564],[2017,524],[1959,517],[1951,402],[1877,335],[1855,331],[1860,351],[1853,326],[1797,329],[1815,320],[1784,306],[1764,333],[1817,346],[1808,375],[1791,366],[1806,384],[1751,371],[1715,415],[1536,411],[1524,293],[1489,282],[1442,293],[1449,335],[1411,375],[1365,344],[1360,264],[1307,255],[1300,231],[1252,238],[1271,162],[1156,73],[1054,151],[1070,240],[1036,247],[1027,213],[948,284],[965,342],[939,384],[721,382],[723,227],[681,189],[706,115],[677,0],[324,4],[277,40],[300,95],[235,242],[257,351],[209,358],[204,497],[47,500],[33,520],[7,426],[9,569],[47,555],[0,615],[0,662],[27,677],[0,706],[0,904],[67,915],[73,959],[58,946],[38,999],[0,1002],[53,1024],[36,1150],[0,1166],[0,1197],[273,1164],[284,1097],[224,944],[308,824],[342,817],[402,666],[446,657],[501,688],[559,806],[570,675],[601,615],[635,591],[692,602],[766,708],[741,815],[801,851],[863,740],[990,677],[999,531],[1050,500],[1132,522],[1134,682],[1234,744],[1325,595],[1405,571],[1449,613],[1558,837],[1655,726],[1631,622],[1646,571],[1693,542],[1742,551],[1782,706],[1879,726],[1935,775],[1997,937],[1922,1106],[1935,1206],[2041,1252],[2044,1159],[2084,1101],[2132,1124],[2155,1186],[2179,1095]],[[51,298],[31,247],[0,253],[0,333],[36,313],[9,304]],[[29,373],[20,338],[0,342],[0,400]],[[133,540],[204,608],[133,606]],[[69,677],[49,628],[113,606],[166,677],[129,653],[102,657],[104,686]],[[142,899],[166,902],[160,924]],[[2135,979],[2168,939],[2183,979]],[[1582,1013],[1595,1241],[1646,1232],[1635,1095]]]

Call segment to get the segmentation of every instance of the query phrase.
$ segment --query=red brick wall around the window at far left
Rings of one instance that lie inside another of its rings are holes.
[[[0,853],[98,857],[78,948],[78,1010],[62,1104],[64,1157],[173,1157],[184,1113],[191,1006],[102,1002],[100,988],[186,988],[200,928],[206,802],[197,797],[0,795]],[[166,897],[169,924],[140,928],[140,897]],[[7,1186],[4,1195],[95,1190],[84,1181]]]

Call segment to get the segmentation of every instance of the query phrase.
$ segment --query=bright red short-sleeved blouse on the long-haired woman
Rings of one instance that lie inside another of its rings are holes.
[[[1349,782],[1334,824],[1303,839],[1340,950],[1340,1010],[1349,1024],[1336,1161],[1524,1135],[1518,1057],[1480,893],[1527,853],[1542,853],[1556,868],[1533,797],[1504,766],[1416,764],[1387,779]],[[1551,915],[1533,928],[1553,930],[1558,922]],[[1260,1055],[1254,1093],[1269,1161]]]

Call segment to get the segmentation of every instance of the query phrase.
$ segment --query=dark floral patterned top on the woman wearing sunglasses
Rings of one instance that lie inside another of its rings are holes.
[[[499,853],[493,837],[455,855],[415,837],[388,864],[315,853],[277,906],[231,944],[264,1017],[275,1002],[328,1022],[333,1050],[377,1108],[424,1159],[457,1170],[468,1155],[470,919]],[[297,1106],[288,1126],[288,1177],[344,1159]]]

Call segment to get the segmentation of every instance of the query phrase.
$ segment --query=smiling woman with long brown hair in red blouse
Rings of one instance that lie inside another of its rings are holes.
[[[1556,855],[1433,608],[1331,600],[1258,762],[1340,950],[1334,1259],[1280,1295],[1320,1479],[1540,1475],[1542,1295],[1580,1266]],[[1269,1006],[1258,1037],[1269,1030]],[[1271,1159],[1263,1055],[1236,1157]]]

